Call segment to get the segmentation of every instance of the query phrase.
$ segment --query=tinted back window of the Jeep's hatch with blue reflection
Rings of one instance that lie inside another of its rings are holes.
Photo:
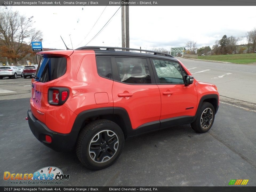
[[[38,67],[35,80],[48,82],[64,75],[67,70],[67,59],[65,57],[40,57],[37,56]]]

